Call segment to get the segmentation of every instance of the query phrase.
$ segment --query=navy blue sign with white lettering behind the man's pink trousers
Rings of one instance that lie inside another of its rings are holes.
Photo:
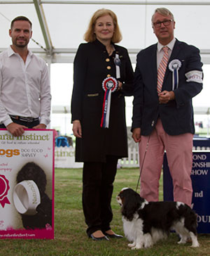
[[[164,200],[174,200],[172,177],[165,155],[163,164]],[[210,152],[193,152],[193,210],[197,213],[197,233],[210,233]]]

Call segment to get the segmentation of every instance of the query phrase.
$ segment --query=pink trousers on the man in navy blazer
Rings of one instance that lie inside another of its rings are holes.
[[[147,143],[148,149],[144,159]],[[158,201],[159,180],[165,151],[173,179],[174,201],[191,206],[193,188],[190,174],[193,165],[193,134],[171,136],[164,131],[160,119],[149,142],[148,136],[141,136],[139,143],[140,167],[144,159],[140,195],[148,201]]]

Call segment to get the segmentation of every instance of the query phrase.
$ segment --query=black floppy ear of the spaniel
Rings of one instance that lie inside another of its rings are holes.
[[[124,196],[123,199],[122,215],[132,221],[134,213],[141,206],[141,198],[138,193],[133,191],[132,194]]]

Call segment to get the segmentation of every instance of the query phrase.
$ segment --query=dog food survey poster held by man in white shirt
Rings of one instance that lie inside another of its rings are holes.
[[[0,238],[54,238],[54,133],[0,129]]]

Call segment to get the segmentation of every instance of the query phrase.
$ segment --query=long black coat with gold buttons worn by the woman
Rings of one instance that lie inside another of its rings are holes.
[[[82,139],[76,139],[77,162],[105,162],[106,155],[127,156],[125,94],[132,95],[134,74],[127,50],[114,45],[120,58],[123,90],[111,94],[109,129],[100,127],[104,102],[103,80],[116,77],[113,62],[100,41],[80,44],[73,66],[72,121],[80,120]]]

